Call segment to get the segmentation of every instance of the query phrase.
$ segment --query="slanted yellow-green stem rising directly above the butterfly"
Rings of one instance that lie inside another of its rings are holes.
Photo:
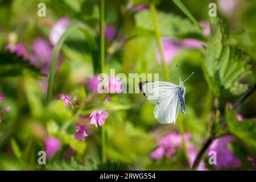
[[[158,49],[159,49],[161,60],[162,60],[164,77],[166,78],[166,81],[170,81],[169,71],[168,71],[168,68],[166,66],[166,62],[164,61],[164,53],[163,53],[162,43],[161,43],[161,38],[160,38],[158,18],[157,18],[157,15],[156,15],[156,9],[155,9],[154,3],[151,3],[150,10],[151,10],[151,13],[152,13],[152,19],[153,19],[153,23],[154,23],[154,27],[155,27],[156,43],[158,45]]]

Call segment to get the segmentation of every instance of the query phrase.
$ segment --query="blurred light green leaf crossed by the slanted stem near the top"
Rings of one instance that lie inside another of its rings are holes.
[[[158,11],[158,23],[161,36],[175,36],[179,38],[197,38],[204,39],[200,28],[193,24],[189,19],[180,16]],[[135,23],[138,34],[154,36],[154,23],[150,10],[140,11],[135,15]],[[151,34],[150,34],[151,32]]]

